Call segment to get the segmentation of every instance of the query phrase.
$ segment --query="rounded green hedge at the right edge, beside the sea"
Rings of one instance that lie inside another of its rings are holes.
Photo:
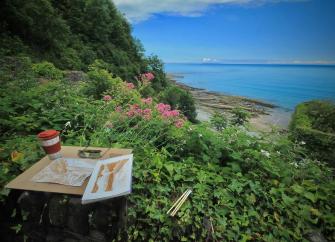
[[[292,138],[305,144],[317,159],[335,166],[335,105],[328,101],[299,104],[290,123]]]

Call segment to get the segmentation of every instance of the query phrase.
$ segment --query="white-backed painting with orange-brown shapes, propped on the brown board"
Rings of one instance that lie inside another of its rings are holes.
[[[133,155],[99,161],[85,189],[82,203],[92,203],[131,192]]]

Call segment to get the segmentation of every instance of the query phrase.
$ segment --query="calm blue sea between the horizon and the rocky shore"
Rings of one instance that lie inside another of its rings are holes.
[[[335,100],[334,66],[166,64],[178,81],[231,95],[245,96],[293,110],[303,101]]]

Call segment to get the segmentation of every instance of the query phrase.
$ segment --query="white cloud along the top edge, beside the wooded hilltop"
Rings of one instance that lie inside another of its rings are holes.
[[[201,16],[213,5],[259,5],[297,1],[305,0],[113,0],[118,9],[132,22],[144,21],[154,14]]]

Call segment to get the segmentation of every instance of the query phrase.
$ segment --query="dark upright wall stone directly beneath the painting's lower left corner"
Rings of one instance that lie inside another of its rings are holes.
[[[81,198],[71,198],[68,203],[68,222],[70,230],[78,234],[88,234],[88,208],[81,204]]]

